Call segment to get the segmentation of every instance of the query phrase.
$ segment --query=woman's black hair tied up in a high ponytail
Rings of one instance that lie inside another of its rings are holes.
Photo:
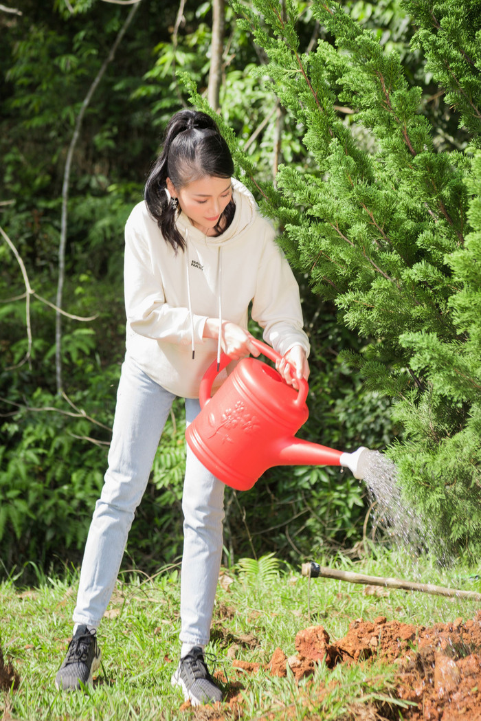
[[[167,193],[167,177],[178,190],[194,180],[211,176],[230,178],[234,162],[229,146],[210,115],[197,110],[180,110],[165,128],[162,151],[146,180],[144,198],[149,213],[157,221],[166,242],[175,249],[185,249],[185,239],[177,229],[175,208]],[[234,218],[235,205],[231,200],[214,230],[226,229]]]

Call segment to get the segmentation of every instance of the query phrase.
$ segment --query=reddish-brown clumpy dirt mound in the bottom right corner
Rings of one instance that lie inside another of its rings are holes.
[[[467,622],[456,619],[430,628],[388,622],[384,616],[373,622],[357,619],[351,622],[345,637],[336,642],[330,640],[324,627],[311,626],[297,634],[295,644],[297,653],[288,658],[277,648],[268,664],[233,660],[232,665],[240,675],[263,668],[273,676],[286,676],[289,666],[299,681],[312,675],[321,661],[334,668],[337,663],[387,660],[399,665],[395,678],[397,698],[412,704],[402,709],[403,720],[481,721],[481,611]],[[217,676],[226,681],[223,674]],[[231,707],[237,707],[242,684],[228,687]],[[386,718],[380,710],[374,709],[371,717]],[[216,718],[222,718],[220,709],[217,713]],[[353,718],[363,717],[359,713],[360,709]],[[401,718],[395,714],[391,707],[389,718]]]

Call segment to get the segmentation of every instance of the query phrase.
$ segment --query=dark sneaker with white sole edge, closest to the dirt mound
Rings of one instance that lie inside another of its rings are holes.
[[[195,646],[180,659],[171,682],[172,686],[181,687],[185,701],[190,699],[193,706],[222,701],[222,691],[208,672],[203,651],[199,646]]]

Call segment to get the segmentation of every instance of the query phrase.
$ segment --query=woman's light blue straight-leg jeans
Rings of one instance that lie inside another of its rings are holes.
[[[75,623],[98,627],[107,609],[134,512],[146,490],[174,399],[128,355],[125,357],[105,484],[95,505],[81,566]],[[187,423],[199,410],[198,399],[185,399]],[[180,640],[193,646],[206,645],[221,565],[224,483],[208,472],[188,446],[182,510]],[[165,544],[168,542],[166,538]]]

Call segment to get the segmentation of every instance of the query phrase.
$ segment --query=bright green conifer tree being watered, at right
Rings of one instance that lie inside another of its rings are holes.
[[[388,452],[407,503],[428,514],[452,549],[479,552],[479,0],[404,2],[418,27],[413,44],[469,132],[464,152],[436,150],[422,89],[410,86],[400,56],[340,4],[313,1],[327,40],[309,54],[299,48],[294,0],[233,4],[268,56],[259,77],[304,128],[309,152],[304,171],[280,167],[277,188],[260,187],[230,136],[247,185],[283,224],[283,247],[314,292],[371,339],[348,360],[394,399],[403,436]],[[374,150],[358,143],[339,106],[354,112]]]

